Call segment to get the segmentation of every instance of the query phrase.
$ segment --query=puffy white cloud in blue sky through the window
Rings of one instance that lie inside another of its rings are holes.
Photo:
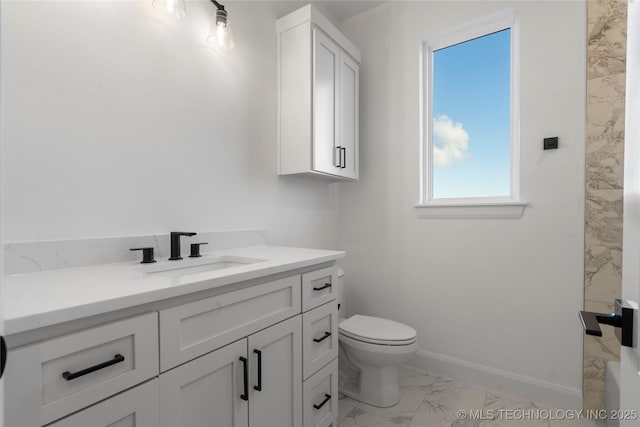
[[[433,164],[446,168],[469,157],[469,134],[449,116],[433,118]]]

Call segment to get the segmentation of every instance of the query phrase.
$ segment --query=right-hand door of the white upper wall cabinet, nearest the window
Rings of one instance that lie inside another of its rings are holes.
[[[340,86],[338,107],[339,174],[358,179],[359,80],[358,63],[346,52],[340,52]]]

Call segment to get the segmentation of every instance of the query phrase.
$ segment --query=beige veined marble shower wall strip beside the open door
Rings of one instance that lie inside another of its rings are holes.
[[[584,306],[611,312],[622,289],[622,191],[627,3],[587,2],[587,128]],[[604,409],[605,364],[620,359],[611,326],[585,335],[585,409]]]

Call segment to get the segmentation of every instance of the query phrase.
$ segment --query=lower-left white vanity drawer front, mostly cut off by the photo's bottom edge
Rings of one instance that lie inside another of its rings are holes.
[[[49,424],[49,427],[157,427],[158,380],[131,390]]]

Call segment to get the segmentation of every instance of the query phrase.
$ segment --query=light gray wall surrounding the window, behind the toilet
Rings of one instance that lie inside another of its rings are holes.
[[[517,220],[419,219],[421,41],[505,8],[520,14],[529,206]],[[342,25],[363,56],[361,179],[340,189],[350,311],[412,325],[427,369],[557,407],[580,406],[585,22],[583,2],[456,1],[391,2]],[[549,136],[558,150],[542,150]]]

